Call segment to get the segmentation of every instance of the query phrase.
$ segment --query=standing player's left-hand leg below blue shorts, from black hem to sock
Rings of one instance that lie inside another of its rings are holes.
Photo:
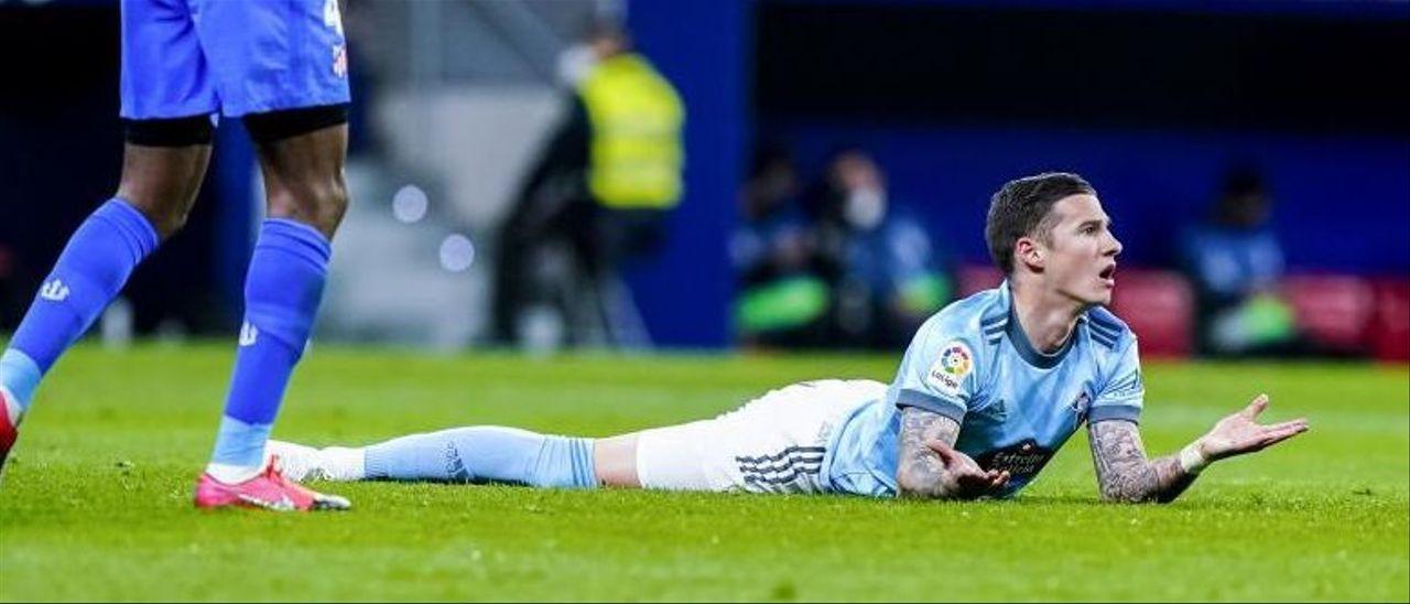
[[[0,469],[20,419],[59,356],[93,325],[128,275],[186,222],[210,161],[209,116],[128,120],[123,179],[63,247],[0,356]]]

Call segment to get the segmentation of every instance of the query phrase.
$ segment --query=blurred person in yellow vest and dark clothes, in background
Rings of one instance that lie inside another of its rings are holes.
[[[520,310],[540,302],[534,271],[546,243],[567,244],[574,268],[601,286],[623,258],[663,244],[681,199],[685,109],[675,87],[620,28],[596,27],[584,48],[588,66],[578,64],[567,117],[499,230],[498,343],[517,343]]]

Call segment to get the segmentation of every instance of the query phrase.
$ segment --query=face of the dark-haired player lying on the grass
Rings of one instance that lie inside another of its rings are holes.
[[[1048,285],[1084,305],[1111,303],[1117,286],[1117,254],[1121,241],[1111,233],[1111,217],[1091,195],[1073,195],[1053,203],[1052,231],[1043,274]]]

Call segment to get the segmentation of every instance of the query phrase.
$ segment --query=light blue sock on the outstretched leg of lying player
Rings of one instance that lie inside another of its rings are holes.
[[[471,426],[403,436],[364,450],[368,478],[596,487],[592,439]]]

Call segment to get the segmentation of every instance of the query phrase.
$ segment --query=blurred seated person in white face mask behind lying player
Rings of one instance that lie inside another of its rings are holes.
[[[870,155],[833,155],[812,189],[821,264],[830,267],[833,330],[842,346],[905,346],[950,301],[953,279],[921,223],[894,203]]]

